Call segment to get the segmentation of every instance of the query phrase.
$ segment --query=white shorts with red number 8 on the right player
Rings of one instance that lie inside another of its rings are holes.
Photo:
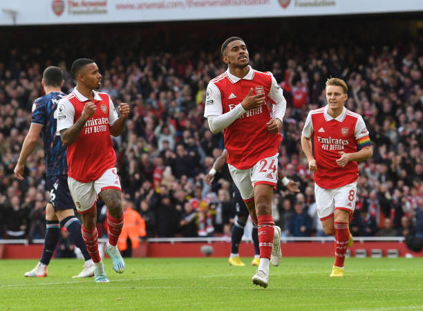
[[[314,194],[320,220],[330,217],[335,209],[353,212],[357,198],[357,182],[335,189],[324,189],[314,183]]]

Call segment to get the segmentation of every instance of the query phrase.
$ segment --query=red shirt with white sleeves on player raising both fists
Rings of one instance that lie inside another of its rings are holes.
[[[88,101],[77,88],[62,98],[57,108],[57,131],[68,129],[77,122]],[[118,120],[118,113],[106,93],[94,91],[93,103],[97,106],[94,115],[87,120],[77,140],[68,146],[68,176],[78,182],[99,179],[104,171],[115,167],[116,162],[110,126]]]

